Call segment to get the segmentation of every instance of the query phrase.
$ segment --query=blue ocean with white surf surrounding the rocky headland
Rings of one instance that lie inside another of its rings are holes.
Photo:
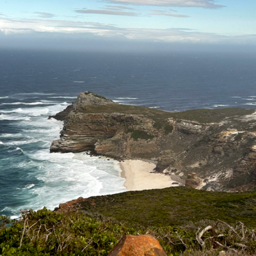
[[[8,216],[125,191],[115,161],[49,153],[62,124],[48,116],[80,92],[165,111],[256,106],[255,56],[249,54],[12,50],[0,57],[0,214]]]

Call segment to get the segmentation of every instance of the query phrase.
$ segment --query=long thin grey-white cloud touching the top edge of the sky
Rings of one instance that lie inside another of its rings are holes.
[[[215,0],[106,0],[115,4],[153,5],[173,7],[200,7],[200,8],[222,8],[221,4],[215,4]]]

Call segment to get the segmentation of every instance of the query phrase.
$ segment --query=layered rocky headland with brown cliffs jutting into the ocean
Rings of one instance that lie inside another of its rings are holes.
[[[120,105],[80,93],[55,118],[64,119],[51,152],[81,152],[116,159],[157,161],[156,172],[186,186],[218,191],[255,188],[256,116],[253,109],[197,109],[168,113]]]

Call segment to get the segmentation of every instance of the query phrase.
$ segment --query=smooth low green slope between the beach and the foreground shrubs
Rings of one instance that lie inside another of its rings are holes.
[[[183,225],[187,221],[223,220],[230,225],[242,221],[255,228],[255,191],[225,193],[172,187],[92,196],[79,202],[83,211],[99,212],[118,221],[145,227]]]

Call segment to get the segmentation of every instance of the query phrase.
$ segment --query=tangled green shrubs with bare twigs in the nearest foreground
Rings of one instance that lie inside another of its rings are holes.
[[[202,245],[196,240],[198,229],[212,225],[205,232]],[[238,227],[238,226],[237,226]],[[234,227],[235,228],[235,227]],[[2,218],[0,223],[0,255],[108,255],[125,234],[151,234],[157,237],[168,256],[217,256],[225,248],[236,250],[236,255],[253,255],[255,231],[248,228],[230,232],[222,222],[188,222],[182,227],[143,227],[131,222],[119,222],[92,212],[24,211],[20,221]],[[244,237],[243,237],[244,234]],[[238,244],[238,245],[237,245]],[[241,246],[246,252],[241,252]],[[240,250],[239,250],[240,249]],[[231,255],[231,254],[229,254]]]

